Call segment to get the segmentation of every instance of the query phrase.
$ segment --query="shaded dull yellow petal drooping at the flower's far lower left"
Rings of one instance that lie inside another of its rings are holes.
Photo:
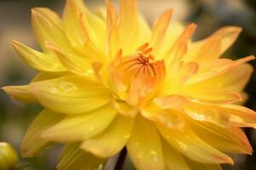
[[[40,137],[41,133],[57,122],[60,122],[64,116],[53,111],[44,110],[34,119],[27,128],[26,134],[21,144],[21,156],[36,156],[39,151],[49,145],[49,141]]]

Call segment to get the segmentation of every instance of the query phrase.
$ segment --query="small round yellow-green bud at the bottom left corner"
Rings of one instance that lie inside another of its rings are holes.
[[[18,155],[14,147],[8,143],[0,142],[0,169],[12,170],[18,163]]]

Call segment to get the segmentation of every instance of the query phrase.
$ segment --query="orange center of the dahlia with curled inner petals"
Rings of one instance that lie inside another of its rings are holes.
[[[148,43],[137,49],[136,54],[121,56],[111,65],[113,86],[120,99],[131,105],[140,105],[151,99],[165,77],[164,60],[154,60]]]

